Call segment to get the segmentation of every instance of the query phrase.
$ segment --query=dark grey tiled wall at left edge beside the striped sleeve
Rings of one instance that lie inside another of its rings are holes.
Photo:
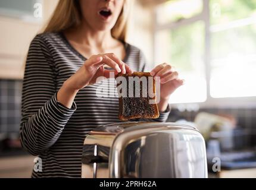
[[[0,80],[0,132],[18,132],[20,128],[22,81]]]

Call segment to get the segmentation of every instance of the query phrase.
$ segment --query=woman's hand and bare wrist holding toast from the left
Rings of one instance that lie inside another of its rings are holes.
[[[118,72],[125,74],[126,72],[132,74],[132,69],[127,64],[124,64],[120,58],[114,55],[114,53],[105,53],[99,55],[93,55],[85,64],[70,78],[68,78],[63,86],[60,88],[57,94],[57,100],[64,106],[70,108],[74,97],[76,97],[77,92],[86,87],[96,83],[98,77],[110,78],[109,69],[104,69],[104,65],[114,69],[115,75]]]

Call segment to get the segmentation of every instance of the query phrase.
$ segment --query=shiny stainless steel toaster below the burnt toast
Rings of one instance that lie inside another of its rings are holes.
[[[85,138],[82,178],[207,178],[205,141],[176,123],[99,126]]]

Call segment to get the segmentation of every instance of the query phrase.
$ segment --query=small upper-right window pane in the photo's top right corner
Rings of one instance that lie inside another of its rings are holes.
[[[256,17],[255,0],[210,0],[211,24]]]

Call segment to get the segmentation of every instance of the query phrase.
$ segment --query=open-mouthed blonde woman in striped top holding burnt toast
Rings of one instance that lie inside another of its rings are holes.
[[[145,70],[141,50],[124,41],[129,2],[62,0],[30,44],[20,135],[23,147],[42,159],[42,170],[32,177],[80,177],[86,134],[120,122],[117,97],[96,97],[95,80],[110,77],[105,66],[115,73]],[[154,121],[164,122],[168,98],[183,81],[168,64],[156,66],[151,75],[161,77],[160,118]]]

